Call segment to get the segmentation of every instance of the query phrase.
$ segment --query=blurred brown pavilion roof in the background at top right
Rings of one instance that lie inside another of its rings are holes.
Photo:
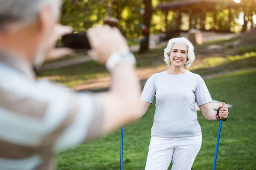
[[[226,8],[240,8],[243,6],[241,3],[235,3],[231,0],[175,0],[169,3],[158,5],[157,9],[175,11],[180,10],[181,7],[202,7],[203,5],[214,8],[220,4]]]

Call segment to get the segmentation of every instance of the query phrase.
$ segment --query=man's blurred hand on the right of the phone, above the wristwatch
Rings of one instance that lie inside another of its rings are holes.
[[[88,54],[92,59],[105,64],[113,53],[127,54],[129,52],[125,37],[118,28],[110,26],[97,26],[87,31],[88,40],[92,50]]]

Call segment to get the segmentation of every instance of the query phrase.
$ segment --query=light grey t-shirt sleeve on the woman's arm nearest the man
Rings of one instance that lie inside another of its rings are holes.
[[[154,87],[154,82],[152,82],[152,79],[149,78],[143,88],[142,94],[140,96],[140,101],[153,103],[155,94],[156,94],[156,90]]]

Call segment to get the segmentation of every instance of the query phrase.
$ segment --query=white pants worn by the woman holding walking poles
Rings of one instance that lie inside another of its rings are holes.
[[[151,137],[145,170],[191,170],[201,149],[202,135],[180,138]]]

